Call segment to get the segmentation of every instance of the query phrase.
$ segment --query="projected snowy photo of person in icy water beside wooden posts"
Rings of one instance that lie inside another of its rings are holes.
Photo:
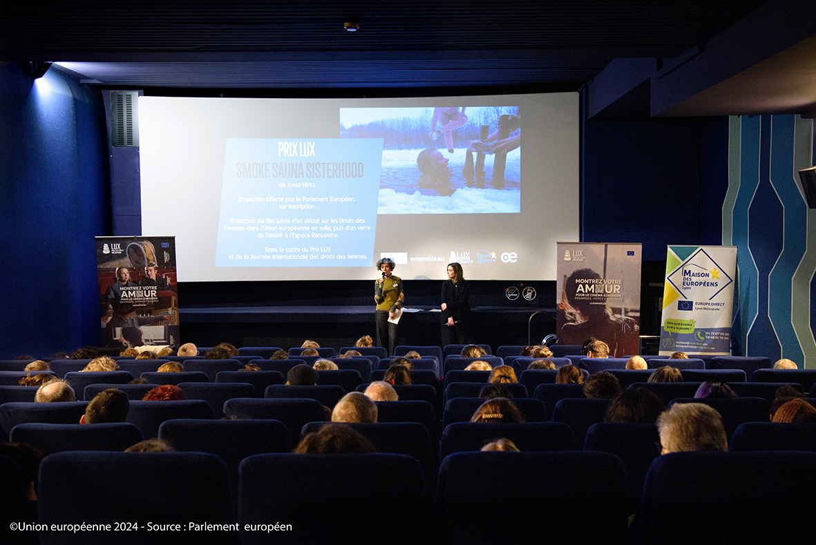
[[[340,136],[382,138],[378,214],[521,212],[521,117],[507,106],[343,108]]]

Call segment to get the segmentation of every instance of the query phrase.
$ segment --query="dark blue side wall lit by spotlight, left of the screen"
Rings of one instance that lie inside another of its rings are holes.
[[[0,358],[97,342],[94,237],[109,234],[99,91],[0,67]]]

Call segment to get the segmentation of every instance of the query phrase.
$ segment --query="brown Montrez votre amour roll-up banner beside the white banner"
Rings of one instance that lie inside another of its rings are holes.
[[[607,343],[610,357],[640,352],[641,245],[558,242],[559,344]]]

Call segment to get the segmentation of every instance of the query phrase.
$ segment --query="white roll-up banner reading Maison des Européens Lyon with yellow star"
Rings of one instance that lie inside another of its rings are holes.
[[[736,246],[668,246],[660,355],[728,356]]]

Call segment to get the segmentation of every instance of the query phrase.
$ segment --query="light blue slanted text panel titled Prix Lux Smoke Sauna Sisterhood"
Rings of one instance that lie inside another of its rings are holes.
[[[216,267],[366,267],[380,139],[229,139]]]

